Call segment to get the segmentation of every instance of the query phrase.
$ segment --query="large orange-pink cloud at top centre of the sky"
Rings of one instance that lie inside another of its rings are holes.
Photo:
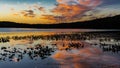
[[[57,0],[57,2],[58,5],[52,12],[66,19],[73,19],[98,6],[101,0]]]

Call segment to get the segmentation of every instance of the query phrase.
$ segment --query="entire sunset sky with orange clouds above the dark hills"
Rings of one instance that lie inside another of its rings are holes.
[[[57,24],[120,14],[120,0],[0,0],[0,21]]]

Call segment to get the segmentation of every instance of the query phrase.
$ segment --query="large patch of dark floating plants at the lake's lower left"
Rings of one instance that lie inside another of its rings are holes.
[[[34,47],[22,48],[11,48],[11,47],[1,47],[0,61],[21,61],[25,55],[27,55],[31,60],[37,60],[37,58],[45,59],[54,52],[53,48],[48,46],[41,46],[40,44]]]

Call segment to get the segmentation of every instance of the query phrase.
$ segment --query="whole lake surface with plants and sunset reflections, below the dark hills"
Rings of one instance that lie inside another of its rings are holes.
[[[0,68],[120,68],[118,30],[0,31]]]

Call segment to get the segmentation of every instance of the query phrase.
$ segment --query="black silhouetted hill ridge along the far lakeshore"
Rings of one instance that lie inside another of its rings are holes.
[[[61,24],[20,24],[15,22],[0,22],[1,28],[79,28],[79,29],[120,29],[120,15],[85,22]]]

